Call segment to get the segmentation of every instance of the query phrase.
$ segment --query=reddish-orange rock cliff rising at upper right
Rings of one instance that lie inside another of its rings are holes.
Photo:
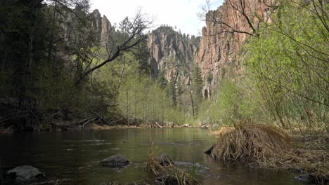
[[[210,92],[220,78],[234,78],[243,71],[239,56],[245,40],[250,35],[233,31],[254,33],[242,13],[233,8],[236,6],[238,10],[242,10],[240,1],[245,1],[245,13],[255,29],[258,29],[259,22],[269,22],[269,7],[264,1],[258,0],[231,0],[231,4],[226,0],[217,11],[207,13],[207,26],[202,28],[200,50],[196,60],[204,78],[213,76],[211,81],[205,80],[205,92]],[[219,21],[230,27],[220,24]]]

